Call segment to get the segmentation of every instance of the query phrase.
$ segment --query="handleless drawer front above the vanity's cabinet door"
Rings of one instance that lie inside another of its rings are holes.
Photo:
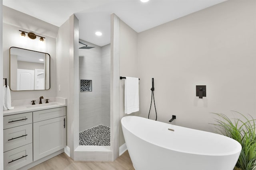
[[[52,119],[55,117],[61,117],[66,115],[66,107],[58,107],[54,109],[46,109],[33,112],[33,122]]]

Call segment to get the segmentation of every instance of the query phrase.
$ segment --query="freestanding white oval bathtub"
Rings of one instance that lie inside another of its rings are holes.
[[[242,149],[223,135],[143,117],[125,116],[121,123],[136,170],[233,170]]]

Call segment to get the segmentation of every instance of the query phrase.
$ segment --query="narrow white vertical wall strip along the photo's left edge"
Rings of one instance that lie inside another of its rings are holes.
[[[3,1],[0,0],[0,68],[3,68],[3,51],[2,51],[2,47],[3,47],[3,37],[2,37],[2,5],[3,5]],[[0,79],[2,80],[3,78],[3,70],[0,69]],[[4,83],[3,83],[4,84]],[[1,87],[3,86],[3,84],[1,84]],[[3,94],[2,94],[2,88],[0,88],[0,108],[3,108]],[[4,169],[4,157],[3,157],[3,109],[0,109],[0,170]]]

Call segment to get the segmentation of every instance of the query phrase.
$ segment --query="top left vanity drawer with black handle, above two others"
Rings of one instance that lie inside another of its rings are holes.
[[[4,116],[4,129],[32,123],[32,112]]]

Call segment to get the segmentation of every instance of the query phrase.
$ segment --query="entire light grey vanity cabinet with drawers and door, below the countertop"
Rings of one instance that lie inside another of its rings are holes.
[[[4,170],[27,169],[65,146],[66,107],[4,116]]]

